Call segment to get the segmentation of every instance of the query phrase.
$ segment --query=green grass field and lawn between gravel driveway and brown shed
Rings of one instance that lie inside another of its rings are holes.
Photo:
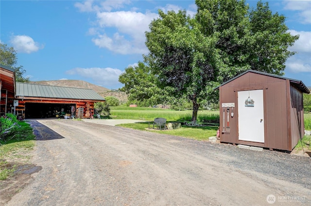
[[[198,126],[189,127],[182,125],[179,129],[174,130],[154,130],[148,129],[148,121],[153,121],[157,117],[167,119],[170,121],[187,122],[191,121],[192,110],[176,111],[172,109],[162,108],[150,108],[150,107],[110,107],[111,116],[113,119],[134,119],[134,120],[146,120],[146,122],[120,124],[118,126],[149,131],[160,134],[167,134],[173,136],[193,138],[197,140],[208,140],[208,137],[216,136],[219,126],[219,111],[198,111],[197,120],[199,122],[218,122],[215,126]]]

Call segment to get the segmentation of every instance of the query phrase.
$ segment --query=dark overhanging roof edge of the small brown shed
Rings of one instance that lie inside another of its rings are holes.
[[[220,86],[217,86],[216,88],[214,88],[214,90],[217,90],[219,89],[219,87],[221,86],[224,86],[225,84],[231,82],[232,80],[235,80],[237,78],[239,78],[240,76],[248,73],[248,72],[253,72],[253,73],[258,73],[258,74],[262,74],[262,75],[266,75],[266,76],[271,76],[271,77],[276,77],[276,78],[279,78],[279,79],[284,79],[284,80],[289,80],[291,82],[292,85],[296,86],[298,89],[300,89],[303,93],[307,93],[309,94],[310,93],[310,90],[308,89],[307,86],[305,86],[303,84],[302,81],[300,80],[295,80],[295,79],[290,79],[290,78],[286,78],[286,77],[282,77],[282,76],[278,76],[278,75],[275,75],[275,74],[269,74],[269,73],[265,73],[265,72],[261,72],[261,71],[255,71],[255,70],[247,70],[247,71],[244,71],[242,74],[224,82],[223,84],[221,84]]]

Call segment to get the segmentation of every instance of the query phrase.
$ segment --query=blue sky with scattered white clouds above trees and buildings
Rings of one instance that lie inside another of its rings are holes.
[[[285,77],[311,86],[311,1],[269,0],[269,6],[300,35]],[[148,53],[144,32],[158,9],[196,13],[194,0],[1,0],[0,42],[15,48],[31,81],[84,80],[117,89],[124,69]]]

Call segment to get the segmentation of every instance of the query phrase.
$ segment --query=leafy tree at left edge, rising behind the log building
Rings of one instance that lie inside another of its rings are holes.
[[[16,82],[29,82],[29,78],[23,77],[26,70],[23,66],[17,67],[17,54],[13,47],[0,43],[0,63],[15,69]]]

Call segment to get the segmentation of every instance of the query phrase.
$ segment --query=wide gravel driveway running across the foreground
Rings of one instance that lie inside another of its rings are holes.
[[[10,206],[311,205],[311,158],[84,121],[30,123],[42,170]]]

